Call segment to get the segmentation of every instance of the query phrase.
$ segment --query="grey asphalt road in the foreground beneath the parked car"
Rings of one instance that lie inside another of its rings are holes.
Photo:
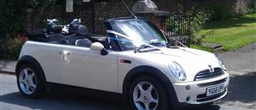
[[[0,110],[129,110],[119,99],[74,93],[54,93],[39,99],[26,99],[18,92],[15,76],[0,74]],[[192,110],[192,109],[191,109]],[[250,110],[241,107],[212,105],[197,110]],[[253,109],[251,109],[253,110]]]

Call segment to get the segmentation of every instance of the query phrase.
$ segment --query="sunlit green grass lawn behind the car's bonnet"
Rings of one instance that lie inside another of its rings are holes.
[[[209,22],[200,34],[206,35],[205,41],[208,43],[222,44],[224,51],[247,46],[256,42],[256,14]],[[201,46],[191,47],[208,50]]]

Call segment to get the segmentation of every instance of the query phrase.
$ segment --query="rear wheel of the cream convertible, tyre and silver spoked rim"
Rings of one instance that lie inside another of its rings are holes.
[[[21,95],[27,98],[42,96],[45,92],[43,73],[29,63],[22,64],[16,71],[17,85]]]

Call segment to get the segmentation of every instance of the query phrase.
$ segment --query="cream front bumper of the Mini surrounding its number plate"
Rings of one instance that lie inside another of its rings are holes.
[[[186,83],[174,83],[172,85],[176,92],[177,101],[179,103],[195,105],[215,102],[219,99],[222,99],[224,96],[226,96],[228,92],[229,82],[230,75],[224,72],[223,75],[220,75],[216,78],[212,78],[209,80],[200,80]],[[213,96],[207,96],[207,87],[219,84],[224,84],[224,92]],[[189,91],[188,89],[186,89],[186,86],[190,86]]]

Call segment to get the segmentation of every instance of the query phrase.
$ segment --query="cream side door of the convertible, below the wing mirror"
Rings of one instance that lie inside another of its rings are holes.
[[[118,91],[117,52],[101,52],[88,47],[63,46],[59,74],[61,83],[102,91]]]

